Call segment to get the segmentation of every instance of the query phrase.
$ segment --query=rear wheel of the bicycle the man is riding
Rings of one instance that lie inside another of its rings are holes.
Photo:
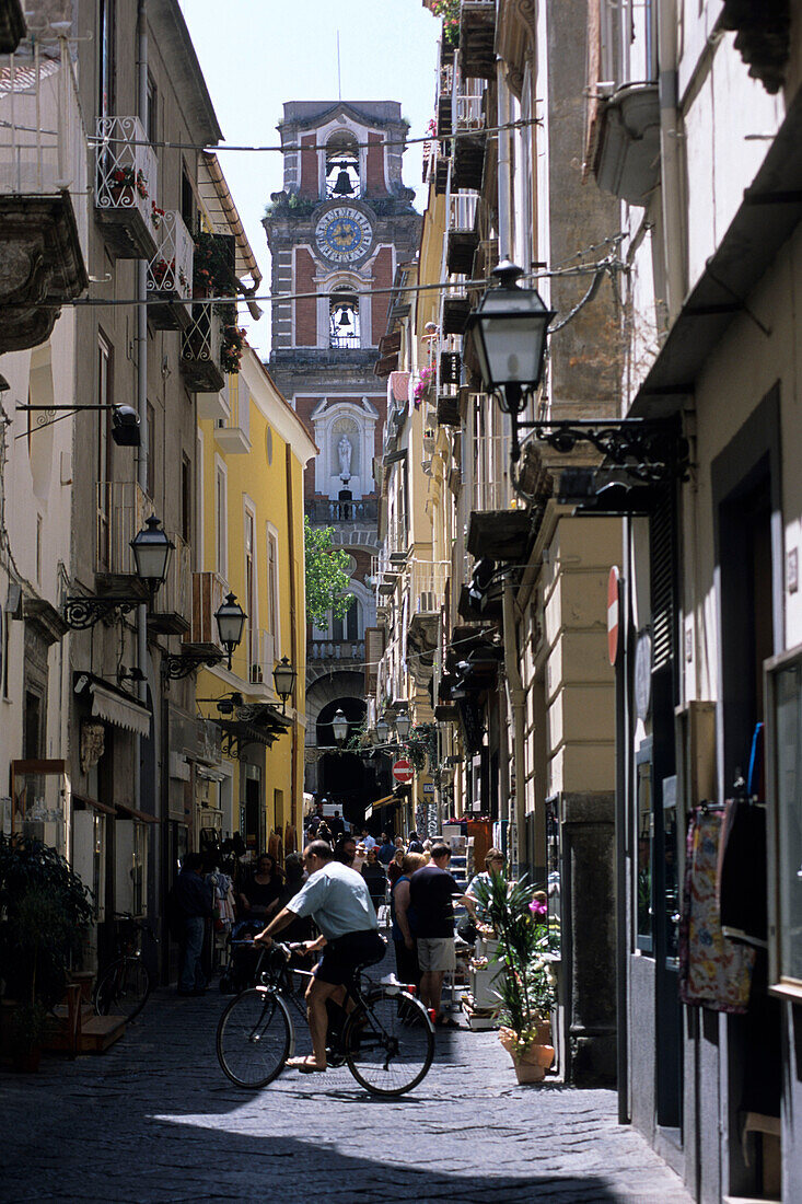
[[[373,1096],[402,1096],[418,1086],[435,1055],[429,1014],[406,991],[373,991],[365,1002],[343,1034],[348,1069]]]

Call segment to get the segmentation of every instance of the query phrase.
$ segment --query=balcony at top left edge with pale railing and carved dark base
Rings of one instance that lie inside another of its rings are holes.
[[[73,90],[61,87],[60,71],[49,67],[49,73],[30,63],[20,69],[12,58],[2,70],[0,354],[45,342],[59,305],[89,283],[69,190],[79,195],[85,187],[77,102]]]

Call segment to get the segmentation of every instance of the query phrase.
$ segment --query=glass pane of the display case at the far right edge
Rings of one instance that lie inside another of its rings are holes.
[[[780,974],[802,981],[802,713],[800,665],[779,669],[777,686],[777,811]]]

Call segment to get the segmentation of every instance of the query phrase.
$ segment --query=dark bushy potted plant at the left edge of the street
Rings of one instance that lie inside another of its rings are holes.
[[[92,916],[87,887],[55,849],[0,837],[0,966],[4,997],[14,1001],[8,1029],[20,1069],[37,1066],[47,1013],[64,996]]]

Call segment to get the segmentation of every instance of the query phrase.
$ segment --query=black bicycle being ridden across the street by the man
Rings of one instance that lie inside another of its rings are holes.
[[[312,975],[290,970],[291,952],[281,944],[263,950],[254,973],[258,985],[231,999],[220,1016],[217,1056],[224,1074],[237,1087],[249,1091],[266,1087],[295,1052],[295,1025],[288,999],[305,1022],[306,1013],[293,990],[291,973]],[[435,1054],[434,1025],[408,987],[362,979],[364,967],[360,967],[346,985],[347,999],[354,1007],[342,1032],[332,1032],[330,1026],[326,1061],[330,1067],[347,1066],[356,1082],[373,1096],[402,1096],[429,1072]]]

